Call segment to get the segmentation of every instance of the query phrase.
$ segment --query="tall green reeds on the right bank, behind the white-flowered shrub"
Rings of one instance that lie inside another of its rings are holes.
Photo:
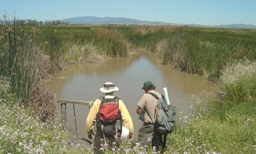
[[[163,64],[214,80],[233,59],[247,56],[255,60],[255,40],[256,36],[249,34],[178,28],[169,38],[158,41],[156,51]]]

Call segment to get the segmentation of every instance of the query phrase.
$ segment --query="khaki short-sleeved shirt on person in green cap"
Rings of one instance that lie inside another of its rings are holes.
[[[150,90],[148,92],[154,93],[157,95],[158,98],[162,98],[162,95],[158,93],[157,91]],[[156,111],[157,111],[157,103],[158,100],[153,97],[151,94],[143,94],[142,97],[140,98],[140,101],[137,103],[137,106],[143,109],[144,113],[144,123],[153,123],[156,120]],[[145,111],[146,110],[146,111]],[[151,119],[148,117],[151,117]]]

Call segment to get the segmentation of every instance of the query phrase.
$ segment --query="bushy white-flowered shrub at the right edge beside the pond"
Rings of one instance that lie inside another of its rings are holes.
[[[256,100],[256,62],[233,60],[224,66],[219,79],[221,91],[231,104]]]

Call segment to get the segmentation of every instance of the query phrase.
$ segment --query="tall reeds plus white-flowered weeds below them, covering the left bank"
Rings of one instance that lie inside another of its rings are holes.
[[[4,16],[5,17],[5,16]],[[37,29],[0,23],[0,153],[63,153],[67,132],[41,83],[52,63]]]

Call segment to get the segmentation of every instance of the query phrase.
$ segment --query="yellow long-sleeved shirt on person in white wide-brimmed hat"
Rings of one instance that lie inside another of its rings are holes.
[[[112,95],[106,95],[105,98],[113,98],[114,96]],[[90,112],[87,116],[86,120],[86,130],[88,136],[93,134],[93,127],[96,122],[96,114],[98,113],[99,106],[101,104],[101,100],[97,99],[93,103],[92,108],[90,109]],[[133,137],[134,134],[134,126],[131,120],[131,116],[125,106],[125,104],[122,102],[122,100],[119,100],[119,110],[122,115],[122,124],[130,131],[129,136]]]

